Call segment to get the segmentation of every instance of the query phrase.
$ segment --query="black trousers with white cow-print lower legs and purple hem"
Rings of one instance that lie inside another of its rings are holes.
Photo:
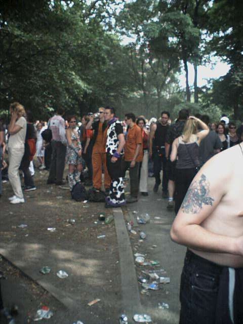
[[[106,197],[106,203],[118,207],[126,204],[123,184],[124,167],[121,157],[115,163],[111,162],[111,157],[111,154],[106,154],[107,170],[111,178],[110,192]]]

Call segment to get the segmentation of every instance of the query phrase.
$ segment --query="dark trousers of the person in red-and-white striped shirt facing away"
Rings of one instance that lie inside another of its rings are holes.
[[[62,182],[66,149],[67,147],[61,142],[52,141],[52,161],[48,178],[49,182]]]

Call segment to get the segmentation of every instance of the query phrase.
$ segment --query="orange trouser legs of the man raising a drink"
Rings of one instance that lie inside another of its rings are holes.
[[[102,166],[105,174],[105,188],[110,187],[110,176],[106,167],[106,153],[93,151],[92,153],[92,166],[93,166],[93,187],[101,189],[102,185]]]

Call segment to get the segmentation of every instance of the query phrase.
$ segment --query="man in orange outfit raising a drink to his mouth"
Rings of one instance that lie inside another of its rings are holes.
[[[107,134],[107,123],[104,117],[105,108],[100,107],[98,111],[98,120],[94,121],[94,115],[90,116],[90,121],[86,126],[86,129],[93,129],[94,135],[93,151],[92,151],[92,166],[93,166],[93,187],[95,190],[101,190],[102,186],[102,170],[104,170],[104,185],[105,192],[109,193],[110,188],[110,176],[106,167],[106,134]]]

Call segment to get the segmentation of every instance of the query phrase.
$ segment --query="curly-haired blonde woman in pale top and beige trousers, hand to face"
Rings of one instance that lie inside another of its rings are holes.
[[[9,182],[11,183],[14,195],[9,198],[11,204],[24,203],[23,191],[19,177],[19,167],[24,155],[24,143],[26,136],[27,122],[24,117],[24,107],[19,102],[10,105],[11,120],[9,124]]]

